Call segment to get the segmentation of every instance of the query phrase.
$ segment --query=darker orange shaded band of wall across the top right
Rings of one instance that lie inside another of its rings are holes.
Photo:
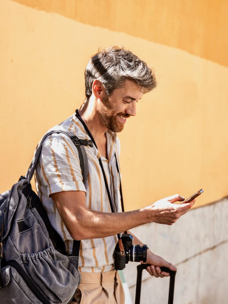
[[[228,66],[227,0],[14,1],[84,24],[180,48]]]

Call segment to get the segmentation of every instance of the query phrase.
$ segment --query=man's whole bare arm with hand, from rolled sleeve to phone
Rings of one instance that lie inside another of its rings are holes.
[[[57,192],[51,198],[75,240],[108,237],[150,222],[172,225],[195,202],[174,205],[173,202],[184,199],[177,194],[140,210],[104,213],[87,208],[83,191]]]

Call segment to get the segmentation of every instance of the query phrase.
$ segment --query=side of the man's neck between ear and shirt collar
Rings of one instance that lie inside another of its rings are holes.
[[[102,139],[105,136],[108,128],[97,111],[97,98],[93,96],[86,98],[78,113],[95,137]]]

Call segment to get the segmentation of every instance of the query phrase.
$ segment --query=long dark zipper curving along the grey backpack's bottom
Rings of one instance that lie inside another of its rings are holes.
[[[24,269],[21,267],[21,265],[14,261],[10,260],[7,262],[8,265],[11,265],[14,267],[19,274],[22,276],[28,287],[31,289],[31,291],[34,293],[34,295],[37,297],[37,299],[40,300],[43,304],[50,304],[50,302],[43,296],[43,294],[39,291],[39,289],[36,287],[36,285],[31,281],[31,278],[27,275],[27,273],[24,271]]]

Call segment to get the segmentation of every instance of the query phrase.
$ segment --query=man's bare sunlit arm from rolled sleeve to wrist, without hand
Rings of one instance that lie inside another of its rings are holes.
[[[83,191],[57,192],[51,197],[74,240],[108,237],[152,221],[146,208],[119,213],[88,209]]]

